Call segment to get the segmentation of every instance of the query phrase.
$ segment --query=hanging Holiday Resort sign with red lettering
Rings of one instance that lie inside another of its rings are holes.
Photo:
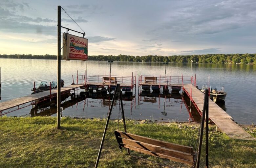
[[[88,39],[63,33],[63,59],[88,60]]]

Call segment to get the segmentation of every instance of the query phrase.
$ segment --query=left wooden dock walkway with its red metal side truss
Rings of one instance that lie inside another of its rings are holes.
[[[60,92],[63,94],[65,92],[74,90],[74,89],[82,87],[82,86],[85,86],[85,84],[75,84],[75,85],[65,86],[65,87],[60,88]],[[50,99],[50,95],[52,98],[57,96],[57,89],[51,90],[51,94],[50,94],[50,90],[49,90],[49,91],[39,92],[36,94],[30,94],[30,95],[27,95],[24,97],[20,97],[20,98],[2,102],[2,103],[0,103],[0,115],[4,115],[4,114],[10,113],[12,111],[28,107],[30,105],[35,104],[36,101],[43,101],[43,100]]]

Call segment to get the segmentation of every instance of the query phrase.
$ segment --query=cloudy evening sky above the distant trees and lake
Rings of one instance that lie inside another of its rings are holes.
[[[256,53],[255,0],[0,1],[0,54],[57,55],[58,5],[88,55]]]

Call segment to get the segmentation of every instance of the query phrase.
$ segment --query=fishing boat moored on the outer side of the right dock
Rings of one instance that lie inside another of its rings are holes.
[[[205,93],[205,90],[208,89],[207,85],[203,85],[201,92]],[[216,86],[215,89],[210,87],[210,99],[214,103],[224,101],[226,98],[227,92],[224,91],[224,86]]]

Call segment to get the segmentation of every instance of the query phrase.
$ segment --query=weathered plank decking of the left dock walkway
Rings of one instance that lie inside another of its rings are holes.
[[[60,88],[60,92],[69,91],[71,89],[75,89],[75,88],[78,88],[81,86],[84,86],[84,84],[75,84],[75,85],[65,86],[65,87]],[[52,95],[56,94],[56,93],[57,93],[57,89],[53,89],[51,91]],[[42,99],[44,97],[48,97],[48,96],[50,96],[50,90],[44,91],[44,92],[39,92],[36,94],[30,94],[30,95],[27,95],[24,97],[19,97],[19,98],[12,99],[12,100],[8,100],[8,101],[0,103],[0,111],[11,109],[11,108],[14,108],[14,107],[38,100],[38,99]]]

